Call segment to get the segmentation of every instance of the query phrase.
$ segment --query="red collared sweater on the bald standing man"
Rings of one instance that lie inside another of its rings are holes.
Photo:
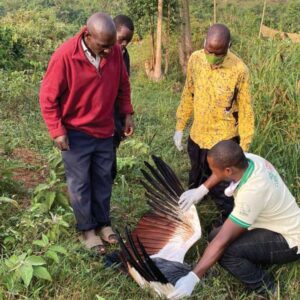
[[[81,46],[84,29],[54,52],[42,81],[41,111],[52,138],[67,129],[96,138],[112,136],[116,99],[121,114],[133,113],[121,48],[115,45],[97,70]]]

